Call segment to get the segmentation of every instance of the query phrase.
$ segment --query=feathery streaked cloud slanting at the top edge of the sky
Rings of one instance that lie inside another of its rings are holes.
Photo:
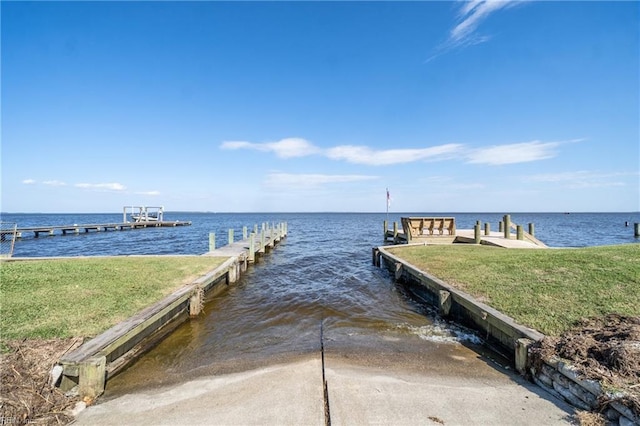
[[[457,23],[449,32],[447,40],[440,44],[427,62],[453,49],[484,43],[489,35],[478,33],[478,27],[490,15],[501,10],[525,3],[527,0],[471,0],[460,1]]]

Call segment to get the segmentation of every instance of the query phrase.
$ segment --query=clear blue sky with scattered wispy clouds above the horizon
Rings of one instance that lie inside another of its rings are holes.
[[[5,212],[638,211],[638,2],[2,2]]]

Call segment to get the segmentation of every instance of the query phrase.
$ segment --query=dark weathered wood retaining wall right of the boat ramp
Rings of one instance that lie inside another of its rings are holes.
[[[549,393],[587,411],[601,410],[602,401],[607,401],[604,415],[610,422],[620,426],[640,425],[640,415],[616,401],[624,398],[624,394],[607,393],[599,382],[581,378],[566,360],[554,358],[534,362],[531,346],[544,338],[542,333],[517,324],[511,317],[421,271],[384,247],[373,249],[373,263],[389,270],[419,298],[437,306],[443,317],[479,330],[485,341],[514,361],[518,372]]]

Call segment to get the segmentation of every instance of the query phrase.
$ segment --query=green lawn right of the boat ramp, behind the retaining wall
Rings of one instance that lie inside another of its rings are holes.
[[[577,320],[640,315],[640,244],[576,249],[399,246],[394,255],[542,333]]]

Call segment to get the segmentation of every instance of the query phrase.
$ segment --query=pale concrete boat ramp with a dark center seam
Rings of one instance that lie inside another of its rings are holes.
[[[573,409],[464,348],[322,353],[91,406],[78,425],[555,425]]]

